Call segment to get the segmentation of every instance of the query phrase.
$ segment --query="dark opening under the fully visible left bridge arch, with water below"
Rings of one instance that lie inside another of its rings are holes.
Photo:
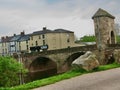
[[[57,74],[57,64],[47,58],[38,57],[29,66],[30,81],[49,77]]]

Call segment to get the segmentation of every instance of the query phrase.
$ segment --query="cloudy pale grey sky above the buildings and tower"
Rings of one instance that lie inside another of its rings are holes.
[[[0,0],[0,37],[62,28],[77,38],[94,35],[91,19],[102,8],[120,22],[120,0]]]

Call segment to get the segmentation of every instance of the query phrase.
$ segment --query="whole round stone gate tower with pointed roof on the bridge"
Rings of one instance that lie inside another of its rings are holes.
[[[103,9],[99,9],[94,16],[95,36],[98,49],[105,49],[107,44],[116,43],[116,34],[114,29],[115,17]]]

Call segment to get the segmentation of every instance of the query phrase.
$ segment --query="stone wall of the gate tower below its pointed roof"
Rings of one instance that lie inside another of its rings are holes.
[[[111,32],[114,32],[114,19],[109,17],[98,17],[94,19],[95,25],[95,35],[97,47],[99,45],[102,49],[106,48],[106,44],[112,44],[111,42]],[[115,35],[114,35],[115,36]]]

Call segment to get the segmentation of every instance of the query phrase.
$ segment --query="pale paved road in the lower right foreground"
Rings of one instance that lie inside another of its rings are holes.
[[[120,90],[120,68],[85,74],[34,90]]]

